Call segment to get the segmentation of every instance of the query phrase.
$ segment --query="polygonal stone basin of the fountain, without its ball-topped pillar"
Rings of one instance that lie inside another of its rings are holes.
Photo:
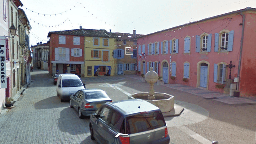
[[[139,98],[144,101],[150,102],[151,104],[159,107],[162,112],[170,112],[174,108],[174,96],[172,95],[155,92],[155,100],[148,100],[148,96],[148,92],[135,93],[131,96],[128,96],[128,99]]]

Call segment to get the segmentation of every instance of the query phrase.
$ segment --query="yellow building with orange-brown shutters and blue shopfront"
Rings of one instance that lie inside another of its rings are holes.
[[[111,38],[111,33],[106,30],[84,29],[84,31],[84,77],[113,76],[115,39]]]

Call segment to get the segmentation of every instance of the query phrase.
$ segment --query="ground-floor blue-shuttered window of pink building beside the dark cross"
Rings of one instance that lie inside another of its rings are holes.
[[[225,63],[219,63],[214,64],[214,76],[213,81],[225,84],[226,82],[226,64]]]

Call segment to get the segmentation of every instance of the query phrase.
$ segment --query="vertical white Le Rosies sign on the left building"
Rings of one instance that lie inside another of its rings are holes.
[[[6,43],[5,37],[0,36],[0,83],[1,89],[7,88],[6,80]]]

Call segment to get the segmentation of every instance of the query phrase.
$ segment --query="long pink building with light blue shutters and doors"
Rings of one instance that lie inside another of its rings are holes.
[[[247,7],[140,37],[138,71],[152,66],[167,84],[218,92],[231,81],[240,96],[256,96],[255,19]]]

